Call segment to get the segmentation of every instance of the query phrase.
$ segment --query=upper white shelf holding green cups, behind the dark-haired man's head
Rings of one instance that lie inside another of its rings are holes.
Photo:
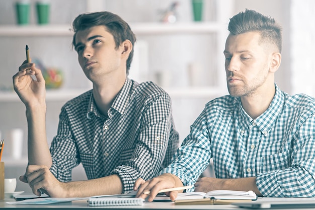
[[[136,35],[156,35],[170,33],[212,33],[225,27],[212,22],[187,23],[134,23],[130,24]],[[72,36],[70,25],[3,25],[0,26],[0,36]]]

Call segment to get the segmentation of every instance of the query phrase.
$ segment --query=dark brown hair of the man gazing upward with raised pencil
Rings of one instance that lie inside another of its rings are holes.
[[[131,31],[130,26],[118,15],[111,12],[95,12],[95,13],[84,13],[78,15],[72,22],[72,29],[74,31],[72,46],[75,46],[75,36],[78,31],[83,31],[94,26],[105,26],[107,31],[111,33],[114,37],[116,49],[120,44],[129,40],[134,46],[136,42],[136,37]],[[130,64],[133,57],[133,48],[129,54],[126,62],[126,71],[129,72]]]

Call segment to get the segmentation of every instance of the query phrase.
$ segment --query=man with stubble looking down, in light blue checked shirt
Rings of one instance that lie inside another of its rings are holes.
[[[169,167],[134,190],[148,200],[164,188],[253,190],[270,197],[314,197],[315,99],[275,84],[281,28],[246,10],[230,19],[225,72],[229,95],[216,98],[191,126]],[[213,158],[215,178],[200,174]],[[188,190],[189,191],[189,190]],[[172,200],[178,191],[168,193]]]

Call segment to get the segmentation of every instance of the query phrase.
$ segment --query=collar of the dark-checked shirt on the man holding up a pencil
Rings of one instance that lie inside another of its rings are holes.
[[[128,103],[129,103],[129,99],[130,99],[130,96],[132,93],[131,88],[132,88],[132,81],[129,78],[126,78],[126,81],[125,81],[122,89],[120,90],[120,92],[116,96],[111,108],[115,109],[120,114],[123,114],[125,112],[126,107],[128,106]],[[89,106],[88,106],[88,110],[87,110],[87,117],[89,119],[91,119],[92,114],[94,114],[98,117],[102,117],[102,114],[100,113],[100,111],[98,110],[98,108],[95,104],[94,97],[93,97],[93,91],[91,91],[91,97],[90,97]]]

